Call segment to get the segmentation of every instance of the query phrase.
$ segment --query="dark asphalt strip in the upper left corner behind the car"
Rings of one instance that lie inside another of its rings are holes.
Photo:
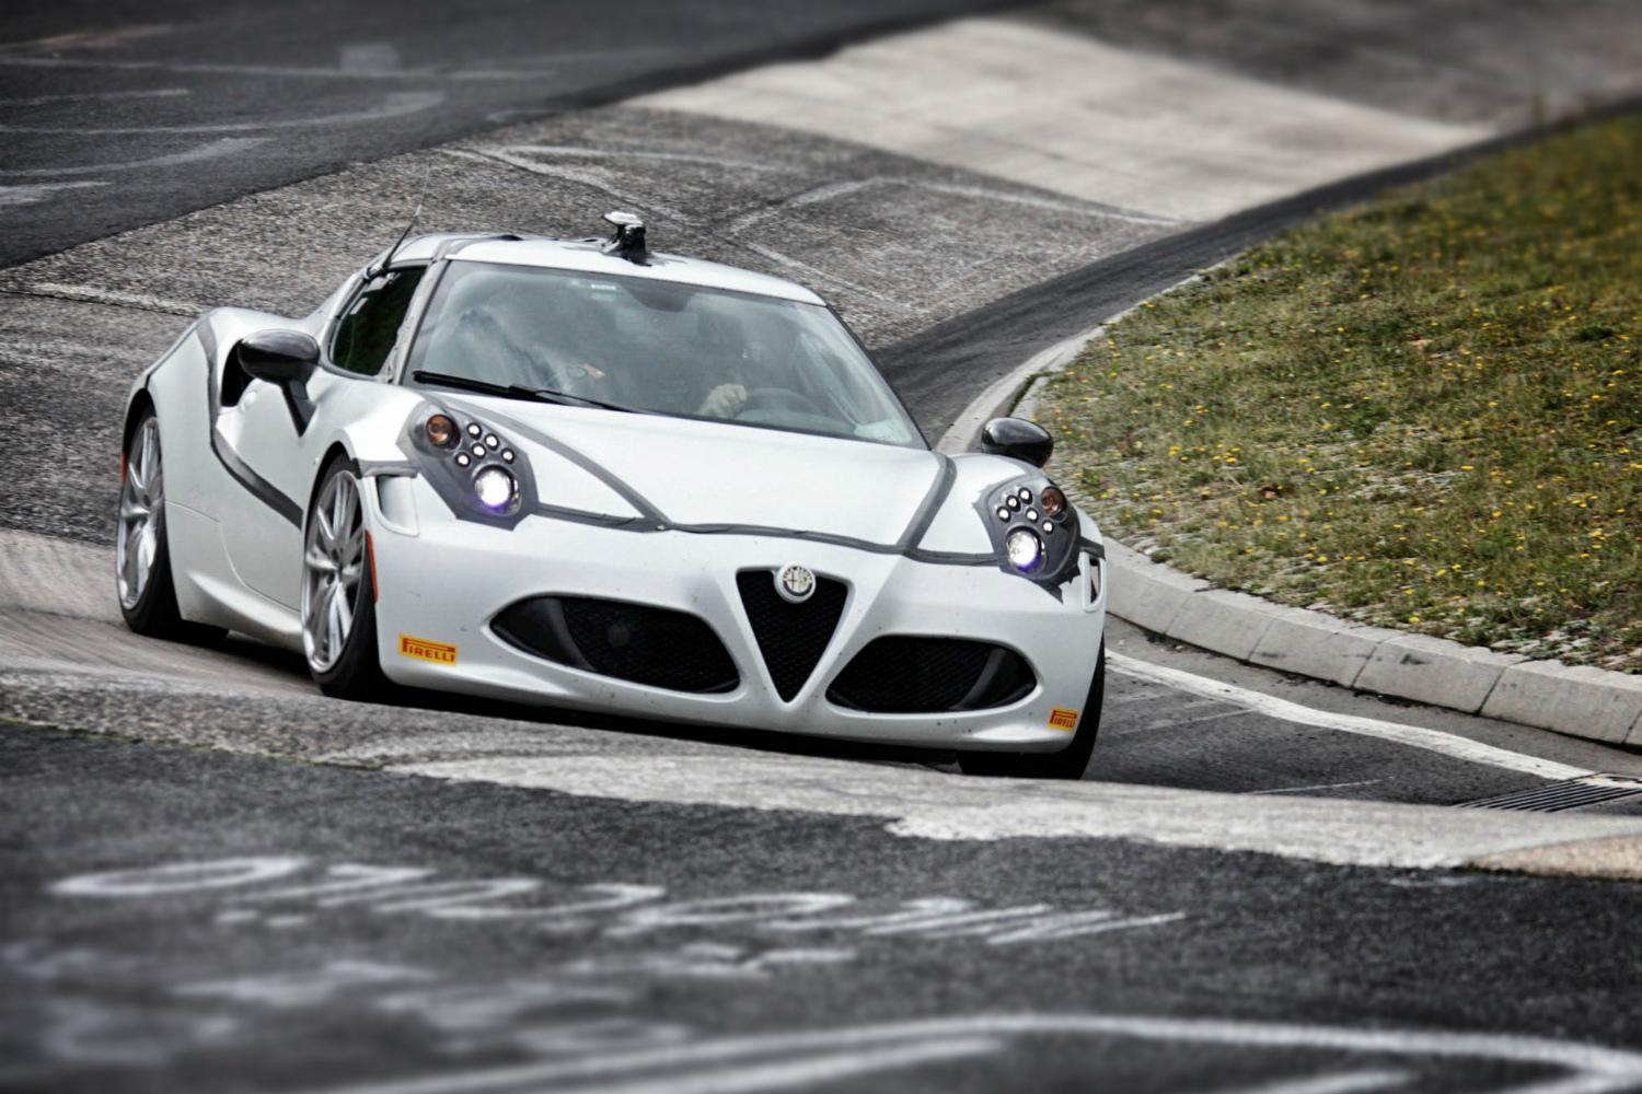
[[[993,7],[10,3],[0,266],[504,121]]]

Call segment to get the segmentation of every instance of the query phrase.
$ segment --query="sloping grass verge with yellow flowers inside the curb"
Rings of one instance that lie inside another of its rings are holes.
[[[1289,231],[1039,402],[1120,541],[1383,627],[1642,671],[1642,118]]]

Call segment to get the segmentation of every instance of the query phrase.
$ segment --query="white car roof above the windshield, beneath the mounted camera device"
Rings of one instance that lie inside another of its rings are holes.
[[[642,266],[629,262],[617,254],[606,254],[601,239],[442,233],[407,239],[394,253],[394,262],[427,262],[442,253],[456,262],[499,262],[506,266],[571,269],[611,277],[645,277],[650,280],[672,280],[685,285],[749,292],[760,297],[778,297],[782,300],[800,300],[803,303],[824,303],[821,297],[800,284],[704,259],[652,251]]]

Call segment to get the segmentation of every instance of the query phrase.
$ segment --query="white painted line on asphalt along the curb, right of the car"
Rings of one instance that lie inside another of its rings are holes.
[[[1410,748],[1424,748],[1425,751],[1450,756],[1453,759],[1486,764],[1489,768],[1501,768],[1504,771],[1516,771],[1520,774],[1532,774],[1540,779],[1575,779],[1583,774],[1591,774],[1585,768],[1573,768],[1565,763],[1557,763],[1555,759],[1540,759],[1539,756],[1514,753],[1506,748],[1475,741],[1470,736],[1460,736],[1458,733],[1443,733],[1442,730],[1427,730],[1420,725],[1404,725],[1401,722],[1365,718],[1355,713],[1314,710],[1312,707],[1302,707],[1300,704],[1289,702],[1287,699],[1277,699],[1276,695],[1268,695],[1248,687],[1238,687],[1236,684],[1225,684],[1222,681],[1209,679],[1207,676],[1182,672],[1181,669],[1153,664],[1151,661],[1140,661],[1121,653],[1107,653],[1107,666],[1123,676],[1151,681],[1154,684],[1163,684],[1166,687],[1172,687],[1174,691],[1202,695],[1205,699],[1218,699],[1222,702],[1236,704],[1245,710],[1253,710],[1254,713],[1263,713],[1268,718],[1277,718],[1279,722],[1296,722],[1299,725],[1314,725],[1320,730],[1338,730],[1342,733],[1376,736],[1383,741],[1394,741]]]

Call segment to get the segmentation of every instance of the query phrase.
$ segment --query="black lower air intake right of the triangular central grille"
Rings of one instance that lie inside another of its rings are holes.
[[[874,638],[828,689],[828,700],[872,713],[1007,707],[1036,684],[1013,650],[964,638]]]

